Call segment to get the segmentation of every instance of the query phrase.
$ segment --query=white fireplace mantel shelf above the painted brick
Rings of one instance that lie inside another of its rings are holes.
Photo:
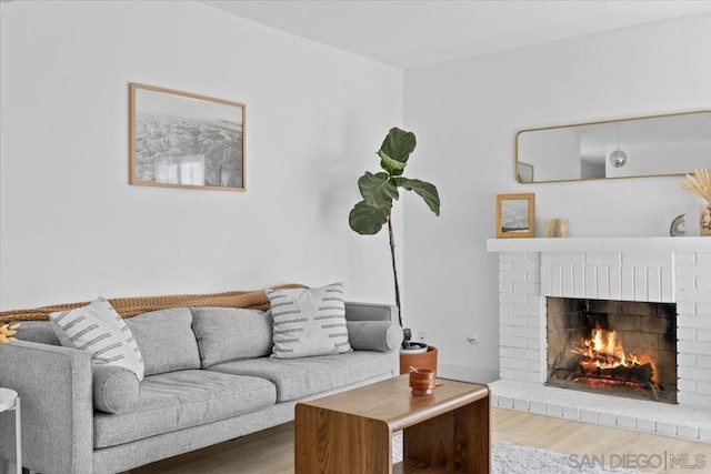
[[[711,252],[703,236],[488,239],[489,252]]]

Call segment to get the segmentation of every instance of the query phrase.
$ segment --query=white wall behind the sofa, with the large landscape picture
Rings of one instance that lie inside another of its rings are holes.
[[[1,309],[337,280],[393,301],[387,235],[348,212],[401,70],[197,2],[0,14]],[[247,193],[129,185],[129,82],[246,103]]]

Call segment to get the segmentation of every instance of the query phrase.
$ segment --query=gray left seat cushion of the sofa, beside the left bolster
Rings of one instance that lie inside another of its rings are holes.
[[[150,375],[128,410],[94,414],[94,448],[251,413],[276,399],[274,385],[263,379],[201,370]]]

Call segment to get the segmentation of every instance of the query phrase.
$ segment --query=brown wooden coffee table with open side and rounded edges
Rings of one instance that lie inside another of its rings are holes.
[[[413,396],[400,375],[297,404],[296,473],[489,473],[489,389],[438,380]],[[403,431],[403,462],[392,465],[392,434]]]

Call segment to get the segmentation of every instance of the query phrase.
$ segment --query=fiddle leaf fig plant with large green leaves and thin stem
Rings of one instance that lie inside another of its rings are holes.
[[[392,202],[400,198],[400,189],[414,191],[435,215],[440,215],[440,196],[434,184],[402,175],[415,145],[414,133],[398,128],[390,129],[377,153],[380,157],[380,168],[383,171],[377,173],[365,171],[365,174],[359,178],[358,189],[363,199],[353,206],[348,216],[350,228],[362,235],[374,235],[384,224],[388,224],[400,326],[402,326],[402,314],[395,268],[395,244],[392,234]],[[407,344],[410,339],[409,330],[405,329],[404,334]]]

